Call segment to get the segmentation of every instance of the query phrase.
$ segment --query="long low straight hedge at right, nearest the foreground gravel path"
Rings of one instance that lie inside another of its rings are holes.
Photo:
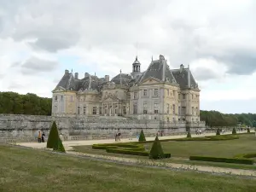
[[[201,160],[201,161],[212,161],[212,162],[224,162],[224,163],[236,163],[253,165],[253,160],[247,159],[236,159],[236,158],[223,158],[223,157],[207,157],[207,156],[190,156],[189,160]]]

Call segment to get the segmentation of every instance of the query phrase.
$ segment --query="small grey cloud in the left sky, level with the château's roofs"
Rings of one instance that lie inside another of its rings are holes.
[[[59,63],[56,61],[47,61],[31,57],[20,65],[21,72],[24,74],[51,72],[58,67]]]

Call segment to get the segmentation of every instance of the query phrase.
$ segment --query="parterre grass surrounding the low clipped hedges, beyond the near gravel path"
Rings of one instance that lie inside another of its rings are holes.
[[[151,143],[145,144],[146,148],[151,148]],[[196,142],[162,142],[165,153],[172,154],[171,159],[165,161],[173,163],[184,163],[203,166],[220,166],[239,169],[255,169],[256,166],[236,165],[228,163],[190,161],[190,155],[209,155],[216,157],[234,157],[236,154],[255,153],[256,137],[254,134],[239,134],[239,139],[226,141],[196,141]],[[107,153],[103,149],[93,149],[91,146],[76,146],[75,151],[88,154],[102,154],[125,158],[148,159],[148,157]],[[256,161],[256,158],[253,160]]]

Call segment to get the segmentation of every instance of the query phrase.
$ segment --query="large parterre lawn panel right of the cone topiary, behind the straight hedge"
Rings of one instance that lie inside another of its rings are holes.
[[[148,143],[148,148],[151,145]],[[255,153],[256,137],[253,134],[241,134],[239,139],[227,141],[162,142],[161,145],[164,152],[172,154],[172,157],[204,155],[232,158],[236,154]]]

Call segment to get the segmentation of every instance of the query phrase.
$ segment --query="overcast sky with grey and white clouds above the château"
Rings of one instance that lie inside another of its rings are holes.
[[[0,0],[0,91],[51,96],[65,69],[190,64],[201,109],[256,112],[256,1]]]

